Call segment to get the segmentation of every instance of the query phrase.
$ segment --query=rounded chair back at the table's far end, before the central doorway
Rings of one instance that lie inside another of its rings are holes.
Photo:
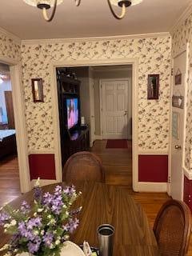
[[[98,156],[82,151],[70,156],[63,168],[65,182],[95,181],[105,182],[105,172]]]

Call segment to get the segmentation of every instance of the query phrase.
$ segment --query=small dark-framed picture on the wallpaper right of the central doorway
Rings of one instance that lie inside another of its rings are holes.
[[[158,99],[159,74],[148,74],[147,99]]]

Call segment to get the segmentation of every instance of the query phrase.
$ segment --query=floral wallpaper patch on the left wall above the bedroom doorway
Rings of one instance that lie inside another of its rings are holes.
[[[0,31],[0,55],[6,58],[21,58],[21,43]]]

